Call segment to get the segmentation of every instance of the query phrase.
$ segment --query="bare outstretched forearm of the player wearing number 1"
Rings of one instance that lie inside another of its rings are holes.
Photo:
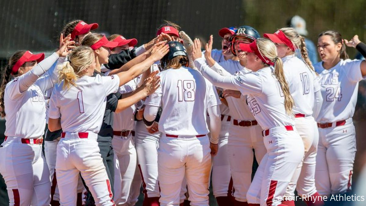
[[[135,58],[137,59],[137,58]],[[133,59],[131,60],[133,61]],[[138,77],[140,74],[150,69],[150,66],[154,63],[153,58],[147,58],[143,62],[138,63],[137,65],[132,66],[128,71],[120,72],[117,75],[119,76],[119,86],[126,84],[132,79]]]

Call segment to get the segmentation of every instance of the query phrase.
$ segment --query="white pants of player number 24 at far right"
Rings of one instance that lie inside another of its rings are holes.
[[[356,154],[356,132],[352,118],[347,119],[343,126],[318,130],[315,186],[320,195],[345,193],[351,189]]]

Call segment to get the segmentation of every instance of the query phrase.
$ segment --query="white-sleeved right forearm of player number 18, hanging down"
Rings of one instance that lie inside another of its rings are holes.
[[[213,144],[219,143],[219,134],[221,130],[221,114],[219,105],[207,108],[210,117],[210,142]]]

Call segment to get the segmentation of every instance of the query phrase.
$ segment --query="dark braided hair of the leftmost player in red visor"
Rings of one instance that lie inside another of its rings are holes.
[[[18,60],[23,56],[23,54],[25,54],[25,50],[20,50],[15,52],[9,59],[9,63],[8,65],[6,65],[2,75],[1,75],[1,85],[0,85],[0,106],[1,106],[1,111],[0,111],[0,115],[1,117],[5,117],[5,105],[4,105],[4,91],[5,91],[5,86],[10,82],[11,80],[11,70],[13,68],[13,66],[15,65],[16,62],[18,62]],[[23,66],[23,65],[22,65]],[[18,71],[16,71],[15,76],[17,76]]]

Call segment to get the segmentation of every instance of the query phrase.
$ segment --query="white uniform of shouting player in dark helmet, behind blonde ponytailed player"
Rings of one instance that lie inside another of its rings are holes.
[[[241,66],[238,61],[228,60],[215,63],[211,69],[222,76],[239,76],[251,71]],[[253,149],[258,164],[266,154],[266,147],[263,143],[262,128],[255,121],[246,103],[246,95],[240,98],[225,98],[230,108],[231,118],[228,121],[228,159],[230,171],[235,188],[234,197],[236,201],[247,202],[246,194],[251,183]],[[245,134],[245,135],[243,135]],[[240,162],[238,162],[240,159]],[[217,174],[216,178],[222,178]],[[214,177],[214,175],[213,175]],[[214,182],[214,180],[212,180]]]

